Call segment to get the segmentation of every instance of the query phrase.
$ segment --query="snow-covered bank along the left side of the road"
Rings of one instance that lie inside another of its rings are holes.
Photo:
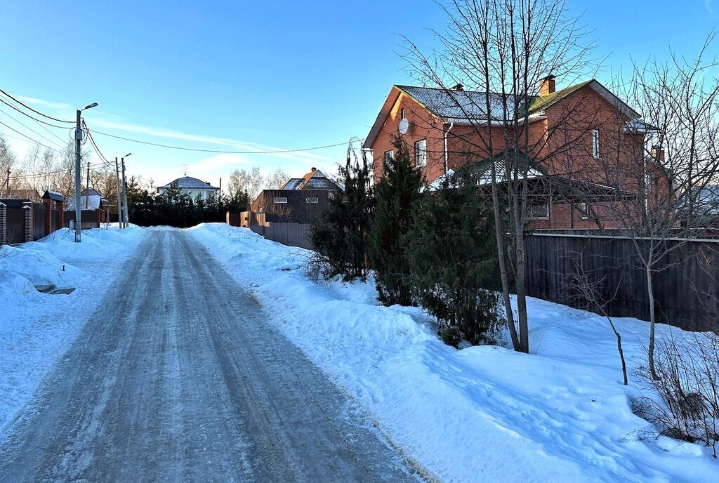
[[[81,331],[132,247],[137,226],[83,231],[82,243],[61,229],[38,242],[0,248],[0,433]],[[50,295],[35,285],[75,288]]]

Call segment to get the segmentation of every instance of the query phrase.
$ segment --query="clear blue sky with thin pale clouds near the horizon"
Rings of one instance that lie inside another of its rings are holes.
[[[719,26],[719,0],[569,0],[569,6],[584,12],[596,54],[606,57],[598,75],[605,82],[611,71],[626,70],[631,57],[667,57],[669,46],[692,54]],[[411,83],[395,53],[398,34],[431,45],[428,29],[446,23],[431,0],[74,6],[0,0],[0,12],[0,88],[68,119],[76,106],[98,102],[85,114],[91,129],[226,150],[293,149],[365,137],[392,84]],[[719,52],[719,43],[713,51]],[[2,112],[0,120],[40,139]],[[226,182],[236,167],[282,167],[290,175],[311,166],[334,170],[346,151],[211,155],[99,134],[96,141],[107,157],[132,152],[129,174],[156,184],[182,175],[184,164],[188,175],[214,184],[219,178]],[[27,149],[17,139],[9,142],[21,156]]]

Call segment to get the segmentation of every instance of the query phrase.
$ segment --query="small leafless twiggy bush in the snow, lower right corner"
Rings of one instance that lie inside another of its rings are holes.
[[[633,412],[654,424],[659,435],[711,446],[719,443],[719,335],[694,334],[657,345],[655,370],[638,373],[659,395],[636,397]]]

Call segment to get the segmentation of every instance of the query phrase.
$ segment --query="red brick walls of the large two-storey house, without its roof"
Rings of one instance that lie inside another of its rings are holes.
[[[385,152],[394,149],[393,135],[398,134],[401,109],[406,110],[410,129],[403,136],[414,153],[414,142],[427,140],[427,164],[421,170],[428,183],[444,174],[444,134],[449,124],[430,114],[423,106],[404,93],[399,94],[393,109],[372,144],[375,183],[382,176]],[[560,175],[592,183],[619,185],[630,191],[638,189],[638,173],[643,172],[644,137],[624,134],[626,115],[586,86],[568,98],[546,109],[546,119],[528,126],[528,145],[531,155],[551,175]],[[494,128],[493,150],[503,149],[503,133]],[[592,155],[592,129],[600,132],[600,161]],[[454,125],[448,136],[449,169],[468,162],[487,158],[488,139],[485,132],[472,126]],[[616,227],[608,223],[616,210],[593,207],[597,216],[582,220],[581,213],[567,201],[554,200],[549,220],[531,221],[534,228],[596,229],[597,218],[604,228]]]

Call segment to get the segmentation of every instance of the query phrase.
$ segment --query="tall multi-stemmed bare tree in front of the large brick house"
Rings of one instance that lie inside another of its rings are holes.
[[[465,137],[467,158],[485,153],[493,160],[491,195],[505,311],[513,346],[528,352],[524,233],[533,198],[546,195],[531,191],[528,155],[539,164],[551,162],[554,175],[571,176],[582,166],[567,162],[571,159],[567,153],[585,139],[592,125],[586,116],[578,119],[582,99],[577,98],[571,109],[555,113],[557,121],[538,136],[530,128],[536,114],[531,107],[541,99],[541,80],[547,75],[587,73],[592,46],[585,42],[585,29],[569,14],[564,0],[453,0],[443,9],[449,29],[436,32],[442,51],[423,55],[408,41],[405,57],[413,75],[442,88],[458,117],[469,121],[474,137]],[[456,88],[449,87],[455,84]],[[462,86],[485,96],[474,101],[464,96]],[[483,119],[477,119],[477,111],[484,112]],[[517,326],[510,305],[511,277]]]

